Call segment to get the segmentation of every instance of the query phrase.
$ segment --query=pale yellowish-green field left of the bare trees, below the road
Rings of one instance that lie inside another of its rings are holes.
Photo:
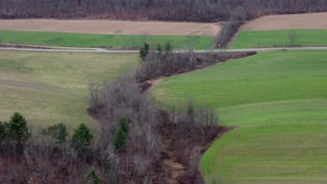
[[[136,54],[0,51],[0,120],[21,112],[34,128],[88,123],[87,87],[135,66]]]

